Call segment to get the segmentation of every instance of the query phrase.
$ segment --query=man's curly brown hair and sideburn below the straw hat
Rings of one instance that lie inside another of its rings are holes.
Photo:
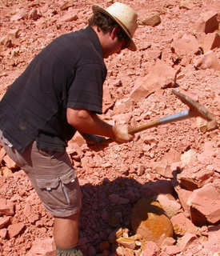
[[[102,30],[104,34],[112,31],[114,28],[118,28],[117,38],[118,42],[125,41],[130,42],[130,38],[124,30],[116,23],[112,18],[106,14],[102,14],[99,11],[94,11],[94,14],[88,20],[89,26],[96,26],[98,31]]]

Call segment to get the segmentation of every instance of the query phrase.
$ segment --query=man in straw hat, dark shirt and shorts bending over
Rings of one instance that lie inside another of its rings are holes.
[[[0,141],[54,215],[59,256],[82,255],[77,246],[81,192],[67,142],[76,130],[94,150],[102,148],[103,137],[118,143],[134,138],[127,126],[111,126],[98,114],[106,79],[103,58],[136,50],[137,14],[119,2],[106,10],[94,5],[93,12],[85,29],[46,46],[0,102]]]

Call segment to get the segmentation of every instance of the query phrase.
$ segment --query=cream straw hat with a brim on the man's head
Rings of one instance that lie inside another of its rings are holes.
[[[132,38],[134,36],[135,30],[137,30],[138,27],[138,14],[136,14],[136,12],[130,8],[130,6],[126,6],[121,2],[114,2],[114,4],[107,9],[103,9],[98,5],[92,6],[92,9],[93,11],[99,11],[102,14],[108,15],[115,22],[117,22],[118,25],[122,27],[122,30],[124,30],[130,38],[130,46],[128,49],[137,50],[137,47],[135,46]]]

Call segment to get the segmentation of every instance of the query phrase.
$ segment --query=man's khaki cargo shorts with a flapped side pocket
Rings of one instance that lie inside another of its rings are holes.
[[[68,217],[82,207],[82,194],[70,157],[66,152],[39,150],[30,143],[22,153],[2,137],[6,153],[26,172],[46,210],[55,217]]]

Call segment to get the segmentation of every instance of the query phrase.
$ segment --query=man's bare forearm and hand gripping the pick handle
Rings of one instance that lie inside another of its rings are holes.
[[[134,138],[133,135],[128,133],[126,125],[111,126],[89,110],[67,108],[66,118],[67,122],[82,134],[100,135],[111,138],[118,143],[126,143]]]

